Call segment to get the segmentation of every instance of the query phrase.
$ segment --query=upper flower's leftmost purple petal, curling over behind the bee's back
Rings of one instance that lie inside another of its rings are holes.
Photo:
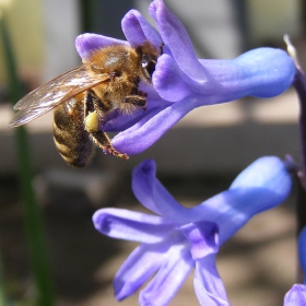
[[[110,45],[129,46],[128,42],[93,33],[84,33],[75,38],[75,48],[82,59],[87,59],[93,50]]]

